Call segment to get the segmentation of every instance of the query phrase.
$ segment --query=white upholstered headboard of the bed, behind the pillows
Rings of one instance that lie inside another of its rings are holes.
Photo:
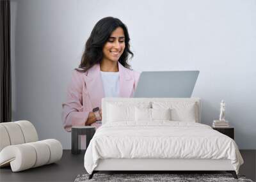
[[[195,104],[196,123],[201,122],[201,101],[200,98],[102,98],[102,124],[106,123],[108,104],[113,105],[152,105],[161,103],[169,103],[175,105]]]

